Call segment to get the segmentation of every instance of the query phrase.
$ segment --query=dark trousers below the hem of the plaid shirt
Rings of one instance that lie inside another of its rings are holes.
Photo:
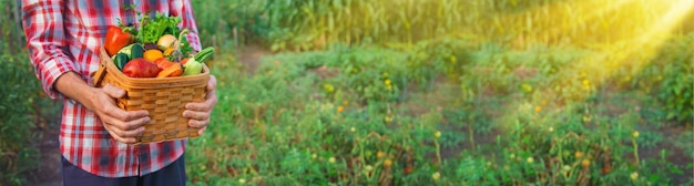
[[[102,177],[72,165],[62,157],[63,185],[65,186],[176,186],[185,185],[185,154],[166,167],[144,176]]]

